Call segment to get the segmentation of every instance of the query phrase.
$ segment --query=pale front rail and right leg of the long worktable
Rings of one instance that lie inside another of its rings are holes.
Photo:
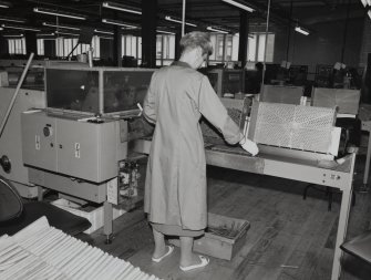
[[[137,153],[148,154],[150,147],[151,141],[140,139],[136,141],[133,148]],[[348,155],[346,162],[338,165],[332,162],[319,164],[316,160],[292,159],[265,154],[251,157],[239,153],[239,147],[236,148],[238,153],[233,153],[230,148],[228,148],[229,152],[213,148],[215,148],[214,145],[208,145],[205,149],[208,165],[329,186],[342,191],[331,274],[331,280],[338,280],[341,272],[340,260],[342,257],[340,245],[344,241],[347,235],[355,154]]]

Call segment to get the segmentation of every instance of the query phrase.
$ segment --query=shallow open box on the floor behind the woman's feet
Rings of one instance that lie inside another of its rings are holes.
[[[203,237],[195,239],[193,250],[215,258],[231,260],[245,245],[249,228],[250,224],[247,220],[209,212],[206,232]],[[230,232],[229,236],[228,232]],[[179,246],[179,239],[168,239],[168,241]]]

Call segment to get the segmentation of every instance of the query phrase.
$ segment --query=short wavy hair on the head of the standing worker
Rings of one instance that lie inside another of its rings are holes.
[[[181,39],[179,44],[181,44],[181,53],[190,51],[198,46],[200,46],[200,49],[203,50],[203,55],[204,54],[210,55],[213,53],[210,35],[206,32],[200,31],[189,32]]]

